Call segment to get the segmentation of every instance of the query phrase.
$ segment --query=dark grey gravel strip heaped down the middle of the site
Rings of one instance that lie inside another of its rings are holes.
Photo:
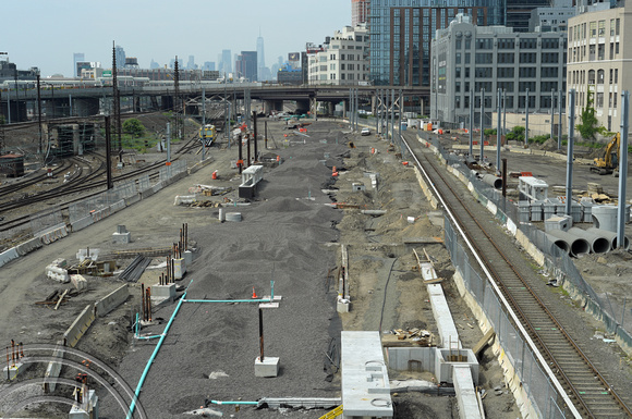
[[[341,211],[331,208],[319,189],[331,176],[331,169],[319,160],[329,152],[336,161],[347,148],[320,143],[328,137],[328,132],[312,134],[305,145],[279,150],[284,162],[265,172],[256,200],[226,208],[227,213],[241,212],[242,222],[189,226],[200,250],[182,281],[186,285],[193,280],[186,298],[247,299],[253,287],[260,297],[269,295],[270,281],[275,281],[275,295],[281,295],[282,301],[278,309],[264,310],[264,332],[265,355],[280,357],[279,377],[254,375],[259,354],[257,305],[185,303],[143,387],[141,402],[149,417],[187,417],[183,414],[199,408],[206,398],[339,396],[338,385],[330,384],[325,353],[330,333],[339,338],[339,326],[330,324],[330,319],[337,319],[336,293],[327,293],[326,281],[336,266],[338,246],[328,244],[338,241],[332,226],[340,221]],[[160,333],[174,307],[158,309],[154,317],[163,319],[162,324],[143,332]],[[155,344],[136,343],[123,360],[120,370],[132,386]],[[102,408],[109,408],[111,402],[106,398]],[[240,418],[279,415],[251,407],[239,412],[232,406],[218,408]],[[285,412],[289,417],[323,414]]]

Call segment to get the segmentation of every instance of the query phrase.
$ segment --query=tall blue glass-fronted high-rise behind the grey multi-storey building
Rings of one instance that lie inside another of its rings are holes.
[[[430,40],[457,14],[479,26],[505,23],[505,0],[372,0],[370,79],[376,85],[430,86]]]

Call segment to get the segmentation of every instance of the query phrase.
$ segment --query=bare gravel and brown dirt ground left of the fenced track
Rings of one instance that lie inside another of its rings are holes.
[[[241,223],[219,223],[217,208],[172,205],[175,195],[186,195],[196,184],[236,187],[239,176],[230,169],[230,161],[236,160],[236,149],[220,144],[210,152],[214,162],[199,172],[131,209],[3,267],[0,317],[13,321],[3,324],[0,338],[8,342],[19,335],[27,343],[52,342],[83,308],[83,299],[71,299],[68,306],[50,312],[37,311],[33,306],[40,295],[60,287],[42,275],[44,267],[56,257],[72,260],[76,250],[85,246],[101,248],[104,252],[169,246],[177,241],[184,222],[189,223],[190,237],[198,249],[186,278],[178,283],[181,286],[191,283],[189,298],[250,298],[253,287],[257,295],[267,294],[270,280],[275,281],[275,294],[281,295],[282,300],[278,309],[264,310],[265,354],[280,357],[281,370],[276,379],[254,377],[254,359],[259,350],[258,313],[254,305],[184,303],[141,395],[153,419],[190,417],[184,412],[198,408],[206,398],[256,400],[260,397],[339,396],[340,374],[330,368],[325,353],[332,337],[339,337],[341,328],[377,330],[381,320],[381,329],[426,326],[436,332],[425,287],[415,281],[418,279],[418,273],[413,271],[416,261],[403,238],[440,237],[440,223],[436,223],[440,217],[433,214],[422,199],[412,170],[388,153],[385,143],[373,137],[345,135],[337,123],[319,122],[308,127],[309,138],[290,136],[287,143],[281,141],[287,132],[281,130],[280,123],[268,125],[281,147],[271,152],[280,155],[283,163],[265,170],[263,187],[250,206],[226,208],[227,212],[241,212]],[[347,139],[353,139],[357,148],[350,150]],[[377,148],[378,153],[372,156],[368,152],[372,147]],[[329,159],[325,153],[329,153]],[[341,155],[350,157],[342,159]],[[151,155],[146,156],[146,159],[151,158]],[[357,210],[341,211],[328,206],[331,198],[320,193],[320,188],[324,184],[330,185],[331,169],[319,160],[327,160],[329,167],[347,169],[340,171],[335,184],[340,188],[333,194],[335,199],[365,208],[384,208],[387,214],[373,219]],[[220,174],[218,181],[210,180],[214,170]],[[362,180],[370,184],[364,177],[366,171],[378,171],[384,187],[377,194],[352,194],[352,182]],[[233,192],[228,197],[235,195]],[[223,201],[223,197],[200,199]],[[415,223],[408,223],[408,217],[415,217]],[[119,246],[110,243],[119,224],[127,226],[133,243]],[[327,279],[329,270],[338,264],[339,243],[350,246],[354,289],[352,312],[341,318],[335,311],[336,293],[331,292],[332,284]],[[439,274],[449,279],[452,268],[442,245],[436,243],[425,247]],[[127,262],[121,260],[121,268]],[[141,282],[156,283],[159,272],[159,269],[147,271]],[[8,281],[9,278],[21,281]],[[88,280],[92,291],[82,297],[87,300],[106,295],[118,284],[112,280]],[[451,281],[443,281],[443,287],[463,333],[460,337],[465,346],[473,346],[482,335],[477,328],[467,326],[467,323],[474,324],[472,313],[459,299]],[[155,341],[132,342],[126,330],[139,306],[138,288],[139,284],[132,285],[132,297],[125,305],[98,319],[78,345],[80,349],[117,366],[132,387],[136,386],[155,348]],[[381,316],[385,291],[387,299]],[[147,326],[143,333],[160,333],[174,308],[175,305],[158,308],[154,318],[161,324]],[[502,386],[502,373],[489,350],[483,354],[482,366],[481,385],[484,389]],[[112,397],[99,394],[100,416],[120,417]],[[396,402],[402,418],[458,415],[451,397],[405,394],[399,395]],[[519,416],[510,394],[486,397],[484,402],[489,417],[510,419]],[[279,415],[318,418],[324,414],[321,410],[279,412],[252,408],[235,412],[227,406],[216,409],[226,416],[243,418]],[[50,411],[42,416],[56,417]]]

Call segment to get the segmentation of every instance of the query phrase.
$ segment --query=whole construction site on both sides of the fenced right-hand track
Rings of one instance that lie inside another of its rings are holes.
[[[252,157],[252,141],[240,141],[245,157],[218,140],[206,159],[191,152],[182,170],[144,189],[136,182],[100,214],[1,249],[3,418],[572,417],[562,396],[547,394],[566,416],[543,410],[536,373],[527,377],[527,361],[519,368],[506,347],[514,332],[477,306],[454,256],[455,227],[410,149],[343,120],[270,119],[266,128],[274,139]],[[401,135],[488,215],[483,193],[458,173],[467,165],[465,136]],[[506,213],[551,237],[567,232],[566,202],[545,202],[563,195],[563,153],[502,152],[506,173],[521,173],[502,185],[514,208]],[[616,198],[618,178],[580,163],[581,208]],[[526,177],[545,182],[548,196],[521,199],[522,184],[540,185]],[[485,222],[568,310],[581,346],[599,354],[629,402],[632,352],[619,333],[632,321],[628,249],[610,237],[608,251],[569,250],[593,289],[575,293],[507,219]],[[572,223],[586,231],[593,220],[581,212]],[[558,247],[570,241],[561,236],[551,238]],[[485,268],[474,270],[485,278]],[[608,316],[582,303],[592,294]]]

